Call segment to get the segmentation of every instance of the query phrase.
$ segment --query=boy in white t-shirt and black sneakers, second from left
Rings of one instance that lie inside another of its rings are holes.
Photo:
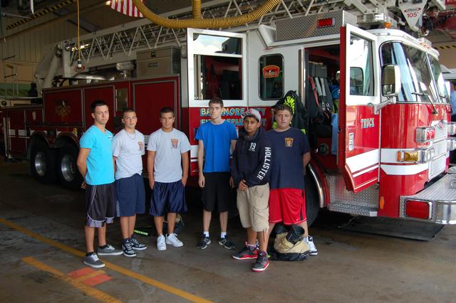
[[[135,250],[145,250],[146,245],[134,236],[136,214],[145,213],[145,188],[142,179],[142,155],[145,154],[144,136],[136,127],[135,110],[123,110],[125,125],[113,139],[115,161],[115,193],[117,215],[122,230],[122,250],[126,257],[135,257]]]

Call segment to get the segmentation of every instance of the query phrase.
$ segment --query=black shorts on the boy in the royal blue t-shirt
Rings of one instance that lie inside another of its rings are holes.
[[[229,206],[229,172],[204,173],[205,184],[202,188],[204,211],[219,213],[228,211]]]

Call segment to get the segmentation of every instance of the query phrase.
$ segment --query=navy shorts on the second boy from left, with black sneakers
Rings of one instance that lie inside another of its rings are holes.
[[[138,174],[115,180],[117,196],[116,213],[118,217],[131,217],[145,213],[144,179]]]

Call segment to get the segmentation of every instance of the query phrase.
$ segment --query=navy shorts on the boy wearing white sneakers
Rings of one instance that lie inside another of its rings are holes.
[[[185,188],[181,180],[171,183],[155,182],[150,196],[150,214],[154,217],[162,217],[165,212],[187,212]]]

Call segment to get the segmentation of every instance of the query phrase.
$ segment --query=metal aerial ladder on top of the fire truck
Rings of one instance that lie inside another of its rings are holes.
[[[261,0],[210,1],[202,4],[202,17],[226,18],[246,14],[261,3],[263,3]],[[386,16],[386,3],[384,0],[369,0],[364,4],[360,0],[282,0],[274,11],[262,16],[255,23],[246,24],[243,29],[257,24],[270,25],[283,18],[296,18],[341,9],[355,9],[366,21],[375,18],[378,20],[379,13],[384,14],[382,18]],[[192,8],[172,11],[162,16],[166,18],[192,18]],[[81,59],[86,68],[134,60],[137,50],[170,45],[182,46],[182,43],[185,43],[185,38],[185,29],[163,28],[150,23],[147,19],[141,19],[82,36]],[[76,38],[62,41],[61,47],[71,51],[71,64],[74,64],[78,55]]]

